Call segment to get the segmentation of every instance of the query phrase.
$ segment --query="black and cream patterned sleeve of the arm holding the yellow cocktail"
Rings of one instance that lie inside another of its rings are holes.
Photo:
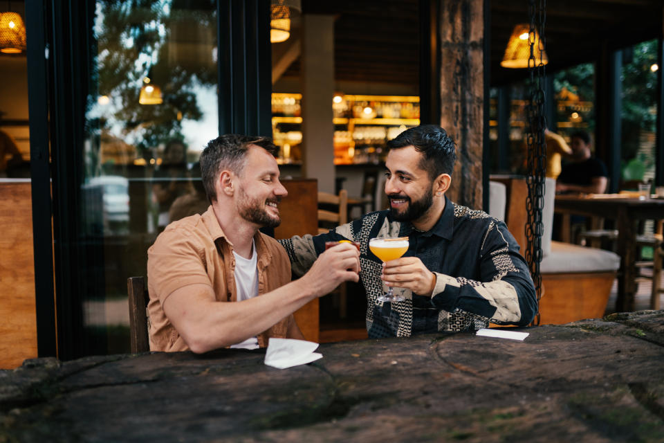
[[[481,280],[436,273],[432,305],[451,316],[470,314],[486,322],[526,326],[537,314],[531,274],[507,226],[491,219],[481,247]]]

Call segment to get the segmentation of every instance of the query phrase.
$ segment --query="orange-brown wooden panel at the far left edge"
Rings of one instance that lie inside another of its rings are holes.
[[[30,182],[0,183],[0,368],[37,356]]]

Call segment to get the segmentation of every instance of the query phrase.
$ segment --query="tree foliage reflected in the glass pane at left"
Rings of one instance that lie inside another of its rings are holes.
[[[91,120],[92,131],[120,125],[122,138],[140,154],[151,156],[160,143],[184,138],[183,120],[203,117],[195,88],[216,84],[216,67],[212,60],[207,64],[183,60],[187,43],[198,44],[214,35],[207,31],[216,29],[214,4],[200,4],[205,9],[175,9],[167,0],[98,1],[93,79],[99,94],[109,96],[116,106],[108,115]],[[210,49],[216,45],[209,39],[204,42]],[[161,105],[138,102],[148,73],[151,84],[162,90]]]

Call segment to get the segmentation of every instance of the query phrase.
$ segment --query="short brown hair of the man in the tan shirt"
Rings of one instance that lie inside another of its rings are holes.
[[[224,134],[208,142],[201,153],[201,177],[208,200],[216,201],[214,188],[216,179],[222,170],[231,170],[241,174],[249,145],[257,145],[277,156],[279,148],[271,138],[259,136],[243,136],[238,134]]]

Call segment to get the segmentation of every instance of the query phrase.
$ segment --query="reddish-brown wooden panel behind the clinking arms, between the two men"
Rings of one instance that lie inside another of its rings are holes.
[[[318,183],[315,179],[283,180],[288,196],[279,204],[282,224],[275,228],[275,238],[318,233]],[[318,343],[320,319],[315,298],[295,311],[295,321],[304,338]]]

